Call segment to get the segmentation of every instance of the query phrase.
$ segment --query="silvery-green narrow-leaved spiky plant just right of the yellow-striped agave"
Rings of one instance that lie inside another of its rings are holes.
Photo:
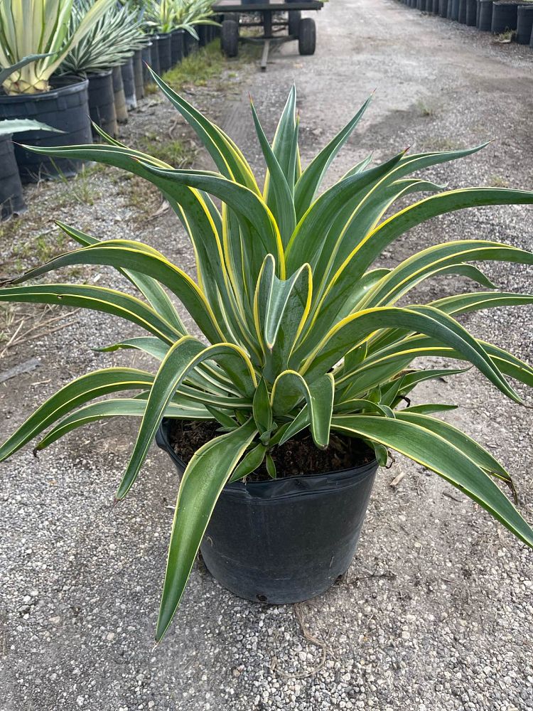
[[[70,33],[74,35],[95,0],[77,0],[70,17]],[[143,30],[139,11],[128,4],[112,4],[101,18],[66,55],[60,70],[65,73],[94,73],[115,67],[149,42]]]

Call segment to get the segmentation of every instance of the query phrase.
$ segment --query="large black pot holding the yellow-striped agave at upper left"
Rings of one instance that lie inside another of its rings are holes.
[[[0,93],[0,119],[34,119],[63,131],[25,131],[17,134],[17,144],[44,148],[92,143],[87,79],[64,75],[52,77],[50,85],[50,91],[38,94],[6,96]],[[50,159],[18,145],[15,156],[23,183],[36,183],[58,175],[70,178],[82,166],[82,161]]]

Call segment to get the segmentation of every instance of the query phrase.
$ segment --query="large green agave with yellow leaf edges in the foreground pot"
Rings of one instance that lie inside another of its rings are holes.
[[[148,332],[104,350],[138,348],[160,361],[155,375],[105,368],[77,378],[44,403],[1,447],[2,459],[46,427],[37,449],[75,427],[117,415],[141,417],[139,435],[120,483],[134,483],[161,418],[215,419],[220,436],[201,447],[181,480],[168,552],[156,638],[171,623],[212,510],[227,481],[247,476],[269,452],[308,428],[317,447],[334,430],[364,439],[380,464],[387,448],[423,464],[457,486],[533,546],[533,530],[500,490],[510,476],[470,437],[431,413],[445,405],[405,405],[416,383],[458,369],[411,368],[419,356],[442,356],[478,368],[504,395],[521,402],[506,376],[533,385],[533,368],[465,331],[456,316],[492,306],[526,304],[533,296],[494,290],[456,294],[426,306],[395,304],[424,279],[462,274],[487,280],[468,262],[533,264],[533,254],[497,242],[443,242],[394,269],[374,267],[381,252],[414,225],[476,205],[532,203],[533,193],[501,188],[438,192],[412,173],[470,155],[405,151],[377,166],[354,166],[317,197],[328,166],[367,108],[305,170],[298,154],[296,92],[284,107],[274,141],[267,141],[252,105],[266,163],[259,188],[241,151],[200,112],[156,77],[193,127],[217,171],[176,170],[107,137],[107,145],[47,149],[117,166],[154,183],[176,210],[195,252],[196,280],[141,242],[100,242],[61,225],[82,248],[56,257],[9,284],[72,264],[115,267],[140,292],[85,284],[35,284],[0,290],[1,301],[84,306],[114,314]],[[106,138],[104,136],[104,138]],[[44,151],[43,151],[44,152]],[[437,193],[384,214],[398,198]],[[222,203],[220,210],[212,197]],[[169,296],[170,294],[170,296]],[[191,336],[172,297],[181,301],[203,337]],[[138,390],[134,397],[102,396]],[[96,402],[89,401],[100,398]]]

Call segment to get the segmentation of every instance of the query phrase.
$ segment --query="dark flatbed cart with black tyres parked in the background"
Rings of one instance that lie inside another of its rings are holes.
[[[222,15],[220,44],[227,57],[236,57],[239,40],[262,43],[261,68],[266,69],[270,47],[273,44],[298,41],[302,55],[315,53],[316,25],[311,17],[301,16],[302,10],[320,10],[320,0],[303,2],[261,2],[240,4],[232,0],[220,0],[213,5],[215,14]],[[262,27],[263,34],[256,37],[239,37],[240,27]],[[284,30],[286,28],[286,34]]]

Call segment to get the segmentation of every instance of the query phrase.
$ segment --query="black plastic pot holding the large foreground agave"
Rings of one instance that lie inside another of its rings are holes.
[[[178,472],[185,464],[163,419],[156,442]],[[244,599],[290,604],[325,592],[348,570],[377,461],[328,474],[227,484],[200,550],[208,570]]]

